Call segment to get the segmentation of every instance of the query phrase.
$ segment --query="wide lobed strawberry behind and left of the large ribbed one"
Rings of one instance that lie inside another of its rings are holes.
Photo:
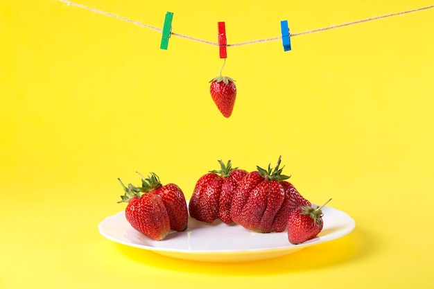
[[[214,222],[220,218],[226,224],[232,222],[230,207],[238,182],[248,174],[246,170],[232,168],[231,161],[227,164],[218,161],[221,169],[211,170],[202,175],[196,182],[191,195],[189,212],[192,218],[202,222]]]

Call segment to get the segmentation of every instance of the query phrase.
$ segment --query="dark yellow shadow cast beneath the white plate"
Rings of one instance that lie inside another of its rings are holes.
[[[372,236],[361,227],[348,235],[306,247],[300,251],[272,259],[243,262],[203,262],[175,259],[146,249],[116,244],[121,252],[137,263],[192,274],[275,275],[305,270],[318,270],[340,263],[352,262],[372,254],[376,249]],[[313,261],[315,260],[315,261]]]

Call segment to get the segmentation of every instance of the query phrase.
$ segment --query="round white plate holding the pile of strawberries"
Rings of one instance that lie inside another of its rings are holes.
[[[116,243],[148,249],[158,254],[178,259],[196,261],[251,261],[284,256],[305,247],[345,236],[356,223],[342,211],[332,207],[322,208],[324,227],[316,238],[300,245],[288,241],[286,231],[259,234],[240,225],[227,225],[220,220],[212,224],[189,217],[186,231],[171,231],[161,241],[152,240],[133,229],[125,218],[125,211],[105,218],[99,223],[100,233]]]

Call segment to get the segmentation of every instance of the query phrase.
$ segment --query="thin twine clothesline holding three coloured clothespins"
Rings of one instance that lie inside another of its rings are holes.
[[[119,19],[121,21],[126,21],[126,22],[129,22],[131,24],[135,24],[135,25],[138,25],[138,26],[141,26],[141,27],[145,27],[145,28],[149,28],[149,29],[153,29],[153,30],[157,30],[159,32],[162,32],[162,28],[150,26],[148,24],[144,24],[144,23],[141,23],[139,21],[135,21],[135,20],[132,20],[132,19],[128,19],[126,17],[122,17],[122,16],[119,16],[119,15],[112,14],[110,12],[105,12],[103,10],[98,10],[96,8],[92,8],[92,7],[85,6],[83,4],[75,3],[75,2],[72,2],[72,1],[68,1],[68,0],[59,0],[59,1],[63,2],[63,3],[67,3],[69,6],[76,6],[78,8],[83,8],[85,10],[90,10],[92,12],[95,12],[95,13],[98,13],[98,14],[101,14],[101,15],[105,15],[107,17],[116,18],[116,19]],[[374,20],[383,19],[383,18],[392,17],[392,16],[397,16],[397,15],[404,15],[404,14],[408,14],[408,13],[412,13],[412,12],[418,12],[418,11],[427,10],[427,9],[431,9],[431,8],[434,8],[434,5],[425,6],[425,7],[421,7],[421,8],[415,8],[415,9],[412,9],[412,10],[405,10],[405,11],[400,11],[400,12],[394,12],[394,13],[390,13],[390,14],[386,14],[386,15],[380,15],[380,16],[376,16],[376,17],[370,17],[370,18],[360,19],[360,20],[346,22],[346,23],[337,24],[337,25],[328,26],[328,27],[316,28],[316,29],[313,29],[313,30],[306,30],[306,31],[300,32],[300,33],[290,33],[290,37],[295,37],[295,36],[298,36],[298,35],[305,35],[305,34],[320,32],[320,31],[324,31],[324,30],[330,30],[330,29],[340,28],[340,27],[344,27],[344,26],[350,26],[350,25],[354,25],[354,24],[361,24],[361,23],[368,22],[368,21],[374,21]],[[196,42],[201,42],[201,43],[204,43],[204,44],[218,46],[217,42],[210,42],[210,41],[207,41],[207,40],[202,40],[202,39],[199,39],[199,38],[196,38],[196,37],[191,37],[191,36],[183,35],[183,34],[180,34],[180,33],[173,33],[172,32],[171,35],[177,36],[177,37],[182,37],[184,39],[191,40],[191,41],[196,41]],[[260,43],[260,42],[270,42],[270,41],[275,41],[275,40],[281,40],[281,36],[271,37],[271,38],[265,38],[265,39],[260,39],[260,40],[250,40],[250,41],[239,42],[239,43],[234,43],[234,44],[227,44],[227,46],[242,46],[242,45],[247,45],[247,44],[255,44],[255,43]]]

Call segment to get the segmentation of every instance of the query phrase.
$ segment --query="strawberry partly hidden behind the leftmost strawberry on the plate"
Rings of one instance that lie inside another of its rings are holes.
[[[180,187],[176,184],[166,184],[163,186],[155,173],[150,173],[149,177],[144,177],[143,175],[140,175],[140,177],[140,191],[144,193],[154,193],[159,196],[163,201],[164,207],[166,207],[171,229],[184,231],[187,228],[189,213],[187,211],[184,193],[182,193]]]

